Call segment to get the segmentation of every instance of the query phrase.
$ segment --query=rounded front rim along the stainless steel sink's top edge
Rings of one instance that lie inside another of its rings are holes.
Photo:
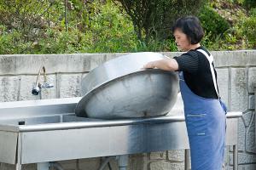
[[[241,112],[231,111],[227,113],[227,118],[240,117]],[[75,128],[91,128],[91,127],[113,127],[127,126],[141,123],[166,123],[166,122],[184,122],[184,116],[157,116],[149,118],[124,119],[124,120],[90,120],[83,118],[84,122],[56,122],[44,123],[38,125],[0,125],[0,130],[11,132],[35,132],[35,131],[50,131],[64,130]],[[86,122],[88,120],[88,122]]]

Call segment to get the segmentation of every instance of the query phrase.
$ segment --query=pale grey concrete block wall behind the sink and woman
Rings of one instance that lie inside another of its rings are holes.
[[[164,53],[169,57],[180,53]],[[239,169],[256,169],[255,99],[256,51],[212,52],[218,71],[218,85],[230,111],[242,111],[239,120]],[[44,89],[41,99],[80,96],[82,78],[97,65],[122,54],[0,55],[0,102],[40,99],[31,94],[38,70],[44,65],[54,88]],[[124,64],[125,65],[125,64]],[[0,104],[1,105],[1,104]],[[226,169],[232,169],[232,148],[226,147]],[[0,153],[2,154],[2,153]],[[65,170],[96,170],[102,158],[60,161]],[[178,170],[184,168],[184,150],[131,155],[130,170]],[[111,161],[112,169],[117,162]],[[0,170],[15,169],[0,164]],[[34,164],[23,169],[35,170]],[[106,167],[105,169],[108,169]]]

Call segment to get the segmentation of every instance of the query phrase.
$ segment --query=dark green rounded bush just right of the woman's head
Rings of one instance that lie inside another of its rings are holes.
[[[204,30],[210,33],[212,37],[217,37],[230,28],[228,21],[224,20],[217,12],[207,6],[201,9],[199,18]]]

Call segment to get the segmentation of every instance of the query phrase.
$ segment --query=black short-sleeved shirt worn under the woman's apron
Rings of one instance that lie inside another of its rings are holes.
[[[204,47],[196,49],[202,49],[210,55]],[[209,61],[204,54],[196,51],[196,49],[173,58],[177,60],[178,71],[183,71],[184,81],[194,94],[207,99],[218,99],[218,94],[215,91],[214,83],[212,81]],[[217,82],[217,72],[215,69],[214,72]]]

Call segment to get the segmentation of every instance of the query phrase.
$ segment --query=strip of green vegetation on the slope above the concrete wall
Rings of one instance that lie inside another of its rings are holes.
[[[130,12],[125,2],[131,2]],[[142,2],[151,3],[136,13]],[[201,0],[194,8],[189,2],[0,1],[0,54],[177,51],[170,27],[182,14],[201,19],[203,44],[211,50],[255,48],[255,1]]]

